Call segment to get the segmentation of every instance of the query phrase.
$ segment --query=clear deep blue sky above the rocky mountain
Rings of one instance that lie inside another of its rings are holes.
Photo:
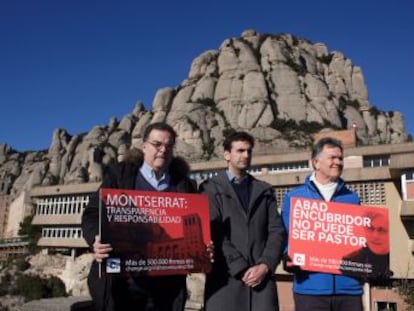
[[[414,133],[414,1],[0,0],[0,144],[47,149],[176,87],[246,29],[323,42],[362,68],[371,104]]]

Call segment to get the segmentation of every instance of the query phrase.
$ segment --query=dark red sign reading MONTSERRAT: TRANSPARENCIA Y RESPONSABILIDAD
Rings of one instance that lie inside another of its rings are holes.
[[[173,275],[208,272],[208,197],[101,189],[101,240],[113,251],[103,273]]]

